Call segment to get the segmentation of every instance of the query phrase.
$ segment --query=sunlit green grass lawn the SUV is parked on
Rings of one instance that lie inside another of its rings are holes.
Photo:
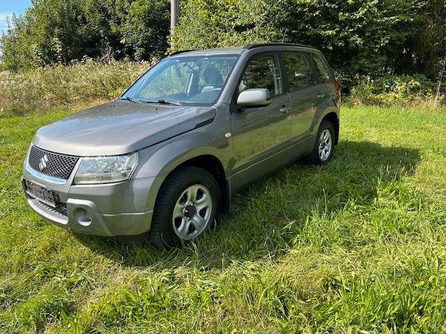
[[[0,118],[1,333],[440,333],[444,111],[344,107],[323,168],[249,186],[201,241],[70,234],[20,187],[33,133],[72,108]]]

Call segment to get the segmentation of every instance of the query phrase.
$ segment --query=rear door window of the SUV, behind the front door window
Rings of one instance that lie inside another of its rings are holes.
[[[312,86],[314,74],[302,52],[286,51],[283,53],[283,58],[290,92]]]

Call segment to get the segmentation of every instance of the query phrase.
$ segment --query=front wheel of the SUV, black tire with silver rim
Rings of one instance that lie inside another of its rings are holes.
[[[164,180],[155,202],[148,232],[153,245],[176,248],[201,237],[213,225],[219,202],[220,189],[212,174],[194,166],[178,168]],[[205,205],[207,209],[200,209]]]

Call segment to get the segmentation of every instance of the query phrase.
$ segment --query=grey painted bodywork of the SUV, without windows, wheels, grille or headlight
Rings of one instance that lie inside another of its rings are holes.
[[[162,183],[178,166],[197,157],[213,157],[224,171],[228,198],[259,177],[312,151],[321,120],[335,113],[339,97],[333,84],[273,97],[269,106],[238,108],[236,88],[254,54],[309,47],[266,45],[185,52],[173,57],[237,54],[238,61],[213,106],[171,106],[116,100],[63,118],[38,130],[33,145],[79,157],[139,152],[130,180],[114,184],[74,184],[79,159],[65,184],[41,180],[24,168],[23,178],[56,192],[67,204],[68,217],[57,216],[27,196],[31,207],[63,228],[87,234],[134,235],[151,227]],[[330,72],[331,73],[331,72]],[[317,95],[324,93],[323,97]],[[316,99],[315,100],[315,97]],[[286,106],[286,112],[281,109]],[[289,109],[290,108],[290,109]],[[26,158],[27,159],[27,158]],[[37,202],[36,202],[37,201]],[[77,212],[91,215],[82,225]]]

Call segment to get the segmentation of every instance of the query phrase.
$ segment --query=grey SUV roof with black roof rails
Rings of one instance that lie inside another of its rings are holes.
[[[215,56],[215,55],[239,55],[243,54],[243,52],[251,49],[258,48],[268,48],[268,49],[290,49],[290,47],[296,47],[299,49],[314,49],[314,47],[310,47],[309,45],[302,44],[291,44],[291,43],[260,43],[260,44],[250,44],[245,47],[223,47],[217,49],[204,49],[204,50],[183,50],[176,51],[171,54],[171,57],[176,56]]]

